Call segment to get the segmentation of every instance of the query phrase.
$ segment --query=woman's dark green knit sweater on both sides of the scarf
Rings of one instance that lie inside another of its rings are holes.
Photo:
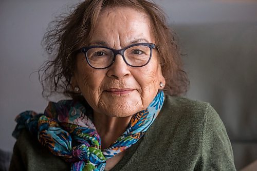
[[[70,170],[29,132],[13,149],[10,170]],[[114,170],[235,170],[226,129],[204,102],[166,96],[159,116]]]

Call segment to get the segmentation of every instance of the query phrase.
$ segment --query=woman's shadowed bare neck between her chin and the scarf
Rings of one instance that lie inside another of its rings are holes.
[[[109,117],[94,111],[94,124],[101,138],[101,149],[108,148],[123,134],[131,118]]]

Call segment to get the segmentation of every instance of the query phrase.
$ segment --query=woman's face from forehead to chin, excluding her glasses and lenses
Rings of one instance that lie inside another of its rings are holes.
[[[89,45],[122,49],[135,43],[155,43],[149,17],[143,12],[107,8],[98,18]],[[154,49],[150,62],[139,68],[128,66],[118,54],[111,67],[94,69],[80,53],[72,84],[80,88],[94,112],[127,117],[149,106],[160,89],[160,82],[165,84]]]

